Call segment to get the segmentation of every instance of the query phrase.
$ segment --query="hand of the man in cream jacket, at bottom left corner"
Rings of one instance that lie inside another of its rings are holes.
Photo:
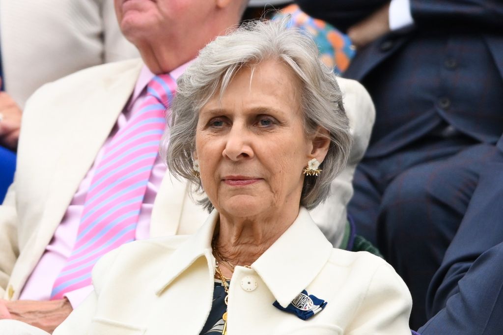
[[[23,321],[50,333],[72,310],[66,298],[50,301],[0,299],[0,319]]]

